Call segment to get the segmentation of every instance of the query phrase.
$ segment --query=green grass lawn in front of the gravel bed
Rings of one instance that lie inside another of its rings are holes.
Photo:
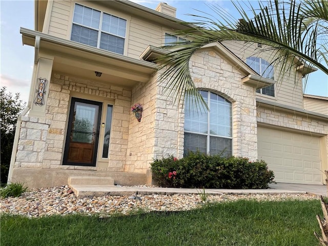
[[[219,203],[130,216],[1,216],[5,245],[319,245],[318,200]]]

